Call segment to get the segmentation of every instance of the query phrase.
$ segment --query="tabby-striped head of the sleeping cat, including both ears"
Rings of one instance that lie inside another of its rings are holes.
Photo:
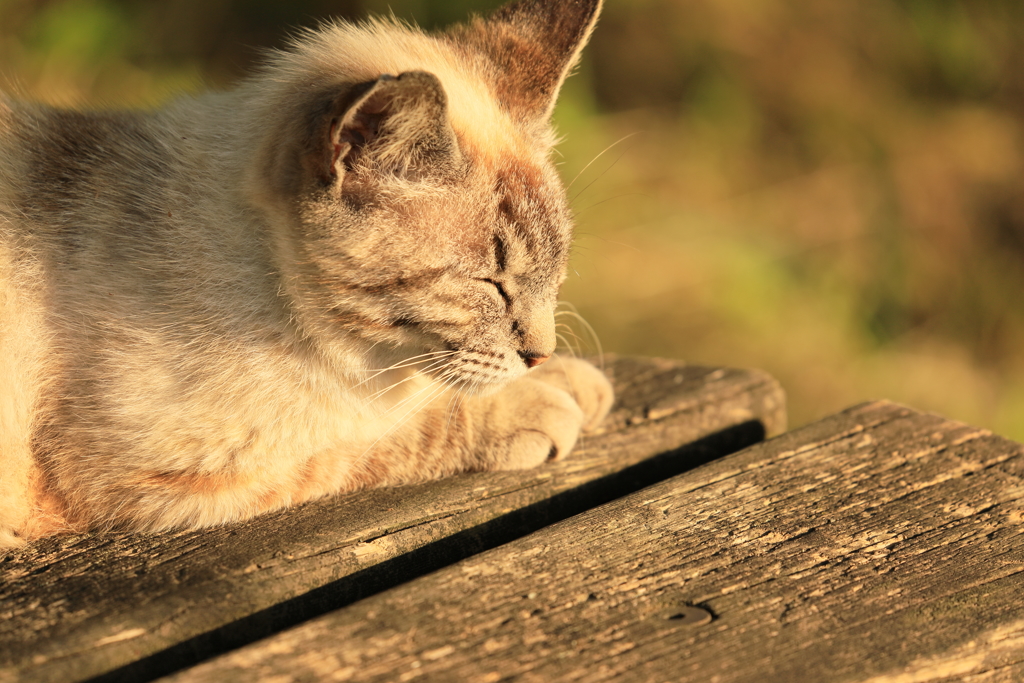
[[[256,81],[283,122],[259,180],[287,217],[300,324],[327,345],[433,353],[421,367],[469,389],[554,352],[572,230],[549,119],[599,9],[519,0],[432,36],[338,25]]]

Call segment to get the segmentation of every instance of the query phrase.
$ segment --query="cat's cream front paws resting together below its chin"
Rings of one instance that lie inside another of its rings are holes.
[[[485,447],[488,469],[537,467],[566,457],[580,432],[607,415],[611,383],[594,366],[555,358],[495,396]]]

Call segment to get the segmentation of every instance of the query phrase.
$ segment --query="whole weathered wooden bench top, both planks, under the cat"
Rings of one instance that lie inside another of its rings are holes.
[[[609,370],[564,463],[10,554],[0,681],[1024,680],[1024,446]]]

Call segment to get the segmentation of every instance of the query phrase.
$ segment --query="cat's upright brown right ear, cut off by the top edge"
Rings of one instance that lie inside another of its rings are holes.
[[[497,94],[506,108],[547,120],[600,11],[601,0],[516,0],[452,37],[494,63]]]

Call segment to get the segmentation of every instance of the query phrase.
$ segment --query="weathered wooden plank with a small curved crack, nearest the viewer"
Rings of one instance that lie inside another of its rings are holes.
[[[169,680],[1021,681],[1022,476],[868,403]]]

